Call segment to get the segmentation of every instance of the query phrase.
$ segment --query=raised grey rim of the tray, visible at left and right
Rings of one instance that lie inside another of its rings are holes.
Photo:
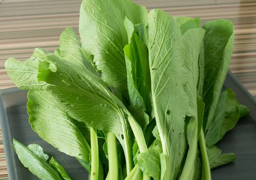
[[[236,95],[236,98],[238,101],[244,105],[246,105],[250,110],[250,116],[253,118],[253,120],[256,122],[256,111],[253,111],[253,107],[256,106],[256,99],[249,93],[249,91],[239,82],[239,80],[236,78],[233,73],[229,70],[224,82],[224,87],[229,88],[232,86],[232,84],[236,84],[237,87],[232,87],[233,92]],[[8,177],[10,180],[17,180],[17,174],[14,172],[14,169],[12,167],[15,166],[15,162],[12,159],[12,153],[13,149],[12,146],[10,146],[9,141],[12,141],[11,135],[6,131],[5,129],[8,128],[2,128],[2,127],[8,127],[7,123],[7,115],[6,110],[3,106],[2,97],[5,94],[11,94],[11,93],[19,93],[24,90],[20,90],[18,87],[11,87],[7,89],[1,89],[0,90],[0,126],[2,131],[2,137],[3,137],[3,146],[4,146],[4,154],[6,158],[6,166],[7,166],[7,172]],[[242,94],[243,97],[237,96],[237,94]]]

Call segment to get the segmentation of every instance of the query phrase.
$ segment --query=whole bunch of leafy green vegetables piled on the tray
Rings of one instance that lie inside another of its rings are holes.
[[[221,93],[233,24],[149,13],[131,0],[83,0],[79,36],[66,28],[51,52],[6,60],[28,92],[29,123],[75,157],[90,180],[211,180],[236,160],[216,143],[249,110]],[[14,140],[21,163],[42,180],[70,180],[41,146]]]

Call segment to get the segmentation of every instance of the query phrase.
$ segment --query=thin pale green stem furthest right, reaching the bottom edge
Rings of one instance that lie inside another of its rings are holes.
[[[203,167],[202,168],[202,179],[203,180],[212,180],[203,127],[201,128],[201,132],[200,132],[200,136],[199,136],[199,145],[200,145],[201,157],[202,157],[202,162],[203,162],[203,164],[202,164],[202,167]]]

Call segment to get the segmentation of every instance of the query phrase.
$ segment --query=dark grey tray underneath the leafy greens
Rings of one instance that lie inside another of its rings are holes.
[[[232,73],[227,74],[224,89],[233,89],[237,99],[250,109],[250,114],[239,120],[236,127],[218,143],[223,153],[234,152],[236,161],[212,170],[213,180],[256,179],[256,101]],[[24,168],[12,150],[12,139],[28,145],[38,143],[50,157],[54,156],[72,180],[86,180],[88,175],[75,158],[58,152],[43,141],[30,127],[26,110],[26,91],[10,88],[0,91],[0,121],[10,180],[38,180]]]

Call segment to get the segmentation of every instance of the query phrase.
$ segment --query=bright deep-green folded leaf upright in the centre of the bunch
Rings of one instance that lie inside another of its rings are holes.
[[[127,69],[128,92],[131,105],[139,105],[151,114],[151,82],[148,64],[148,48],[137,34],[126,45],[125,62]]]

